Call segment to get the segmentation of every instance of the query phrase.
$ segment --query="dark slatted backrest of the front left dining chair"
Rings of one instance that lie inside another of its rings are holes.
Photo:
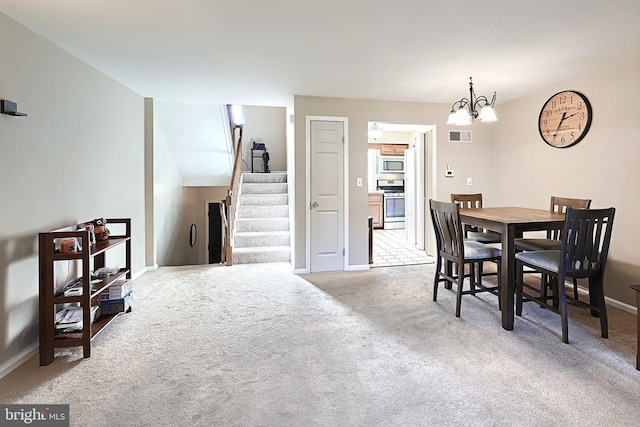
[[[429,200],[431,222],[436,235],[438,253],[464,258],[464,239],[460,222],[460,206],[457,203]]]

